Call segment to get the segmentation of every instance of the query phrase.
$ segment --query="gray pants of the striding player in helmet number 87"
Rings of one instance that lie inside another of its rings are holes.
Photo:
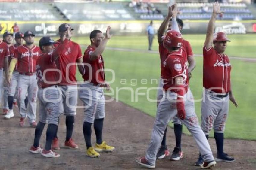
[[[151,165],[155,165],[156,155],[163,139],[164,130],[166,129],[170,120],[177,115],[176,98],[176,93],[166,92],[164,93],[163,99],[158,105],[156,120],[153,126],[153,130],[151,132],[151,141],[145,156],[146,160]],[[199,126],[198,118],[195,114],[194,101],[190,100],[192,98],[193,95],[189,90],[184,95],[186,117],[184,120],[180,121],[187,127],[189,132],[192,134],[204,161],[212,161],[214,160],[214,157],[212,155],[210,145],[204,135],[204,132]]]

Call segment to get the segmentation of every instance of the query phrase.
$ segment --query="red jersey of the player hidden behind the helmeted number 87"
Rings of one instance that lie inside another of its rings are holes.
[[[186,41],[183,39],[181,47],[183,47],[183,49],[186,51],[186,54],[187,54],[186,58],[193,56],[193,51],[192,51],[191,45],[189,44],[189,41]],[[159,43],[159,54],[160,54],[160,67],[162,68],[163,62],[168,56],[168,50],[164,48],[163,43]],[[161,77],[162,77],[162,71],[161,71]]]

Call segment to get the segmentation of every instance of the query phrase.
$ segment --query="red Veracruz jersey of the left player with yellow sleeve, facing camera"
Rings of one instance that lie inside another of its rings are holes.
[[[17,47],[12,57],[18,60],[17,71],[20,73],[34,73],[36,71],[36,60],[40,54],[40,48],[35,45],[31,49],[26,45]]]

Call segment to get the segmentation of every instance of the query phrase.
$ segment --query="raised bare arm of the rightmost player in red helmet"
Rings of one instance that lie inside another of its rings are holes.
[[[214,38],[213,34],[214,34],[215,20],[216,20],[217,15],[221,14],[221,13],[222,12],[220,11],[220,4],[218,2],[214,2],[211,19],[208,23],[206,38],[205,38],[205,41],[204,41],[204,45],[205,45],[206,49],[209,49],[212,46],[213,38]]]

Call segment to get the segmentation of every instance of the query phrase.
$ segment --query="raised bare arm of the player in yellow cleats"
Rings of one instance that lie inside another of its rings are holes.
[[[108,26],[108,28],[106,30],[105,38],[101,41],[101,43],[96,48],[96,50],[90,55],[91,60],[97,59],[98,56],[100,56],[103,53],[103,51],[105,50],[106,44],[112,36],[112,35],[110,35],[110,29],[111,29],[111,27]]]

